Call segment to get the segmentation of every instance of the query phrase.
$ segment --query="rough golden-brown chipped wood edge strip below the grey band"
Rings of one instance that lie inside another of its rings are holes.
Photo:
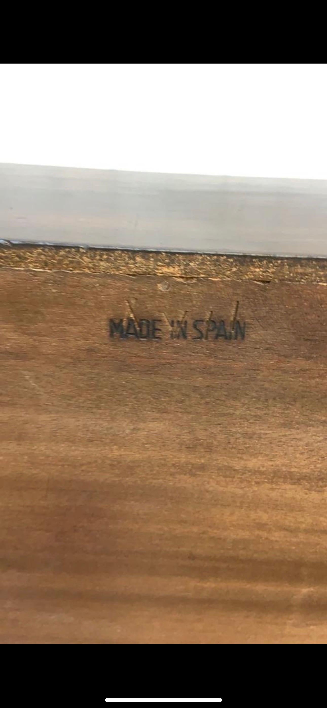
[[[327,258],[226,256],[4,242],[0,244],[0,268],[327,285]]]

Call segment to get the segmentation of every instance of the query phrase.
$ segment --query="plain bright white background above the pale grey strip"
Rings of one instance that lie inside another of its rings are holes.
[[[2,64],[0,161],[327,178],[327,64]]]

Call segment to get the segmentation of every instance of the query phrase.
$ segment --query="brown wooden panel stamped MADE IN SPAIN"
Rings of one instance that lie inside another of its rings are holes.
[[[0,641],[325,643],[323,278],[26,253],[0,273]],[[230,329],[237,303],[244,339],[170,338],[171,319]],[[110,318],[162,339],[110,338]]]

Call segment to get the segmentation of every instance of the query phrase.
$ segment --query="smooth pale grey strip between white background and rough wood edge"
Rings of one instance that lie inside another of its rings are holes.
[[[327,181],[0,164],[0,239],[327,256]]]

